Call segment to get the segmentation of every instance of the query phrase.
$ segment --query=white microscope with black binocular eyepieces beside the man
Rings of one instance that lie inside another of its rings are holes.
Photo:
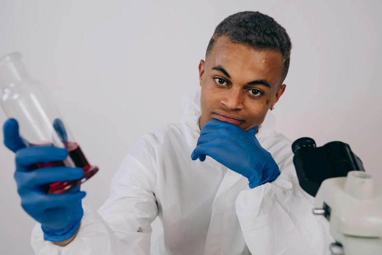
[[[303,137],[292,144],[300,186],[315,197],[313,214],[325,217],[332,255],[382,255],[382,189],[348,144],[317,147]]]

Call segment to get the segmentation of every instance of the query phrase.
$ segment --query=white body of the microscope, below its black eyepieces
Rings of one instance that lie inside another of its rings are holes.
[[[382,189],[375,188],[363,171],[322,182],[313,213],[329,221],[332,255],[382,255]]]

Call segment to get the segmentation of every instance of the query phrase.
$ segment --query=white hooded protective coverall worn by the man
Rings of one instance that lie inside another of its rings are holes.
[[[98,212],[83,206],[76,238],[65,247],[32,232],[38,255],[323,255],[332,241],[313,197],[298,183],[291,141],[273,129],[271,111],[256,135],[281,174],[248,187],[248,179],[214,159],[192,161],[200,135],[200,88],[183,101],[179,124],[141,137],[123,160]],[[161,235],[151,242],[150,224]],[[151,251],[150,251],[151,248]]]

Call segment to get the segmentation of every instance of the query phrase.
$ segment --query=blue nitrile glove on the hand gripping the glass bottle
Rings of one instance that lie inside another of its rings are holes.
[[[83,215],[81,199],[85,192],[77,187],[63,194],[47,194],[46,188],[49,183],[81,179],[83,170],[68,167],[31,170],[31,166],[36,163],[64,160],[68,151],[56,147],[25,148],[19,135],[19,125],[14,119],[4,124],[4,144],[16,153],[15,179],[22,208],[41,223],[45,240],[68,240],[80,227]]]

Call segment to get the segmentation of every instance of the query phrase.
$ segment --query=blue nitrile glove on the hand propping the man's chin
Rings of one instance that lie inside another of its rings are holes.
[[[192,160],[205,160],[210,156],[230,170],[248,178],[254,188],[274,181],[280,170],[271,153],[263,149],[255,137],[257,127],[248,131],[230,123],[211,119],[201,128]]]

